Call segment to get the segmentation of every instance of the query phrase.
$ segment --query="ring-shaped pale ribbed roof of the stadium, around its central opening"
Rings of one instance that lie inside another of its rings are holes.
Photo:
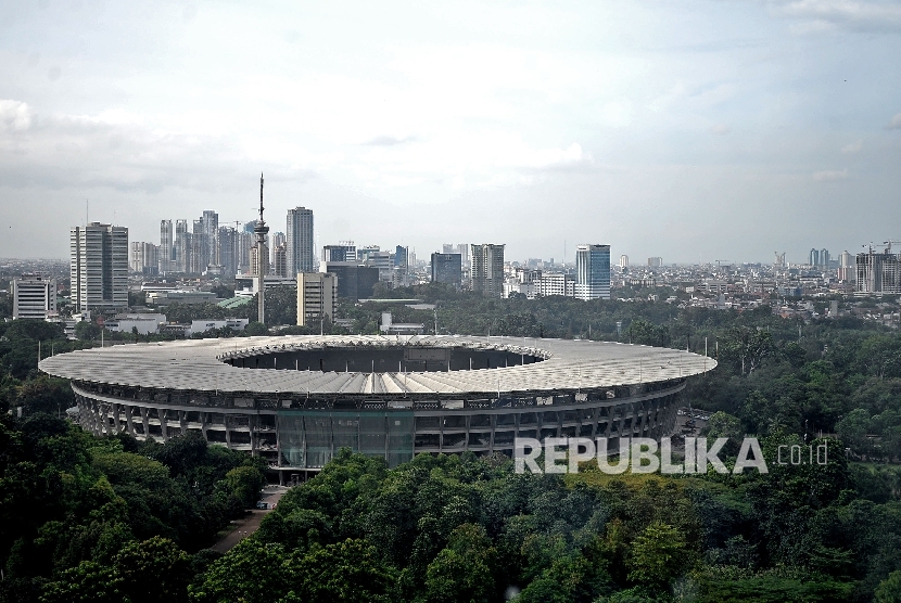
[[[224,362],[229,357],[323,346],[466,347],[546,359],[509,368],[405,373],[248,369]],[[54,376],[129,387],[379,397],[448,397],[491,392],[541,395],[669,381],[700,374],[715,365],[712,358],[669,348],[579,339],[448,335],[304,335],[127,344],[61,354],[39,364],[41,371]]]

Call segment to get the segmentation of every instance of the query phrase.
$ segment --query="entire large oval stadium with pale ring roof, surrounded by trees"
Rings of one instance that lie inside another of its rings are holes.
[[[341,448],[390,466],[419,452],[512,454],[516,437],[669,435],[705,356],[571,339],[280,336],[130,344],[47,358],[77,420],[140,440],[201,434],[279,480]]]

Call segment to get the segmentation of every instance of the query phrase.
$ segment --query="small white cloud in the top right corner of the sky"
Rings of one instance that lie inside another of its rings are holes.
[[[799,34],[901,29],[901,5],[886,0],[770,0],[771,12],[800,21]]]

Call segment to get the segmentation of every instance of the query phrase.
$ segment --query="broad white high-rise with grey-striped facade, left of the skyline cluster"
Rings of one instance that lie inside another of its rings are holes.
[[[75,309],[128,306],[128,229],[91,222],[69,231],[69,287]]]

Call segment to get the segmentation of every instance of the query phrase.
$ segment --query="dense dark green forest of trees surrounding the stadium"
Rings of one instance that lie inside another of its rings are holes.
[[[896,331],[769,307],[396,296],[436,309],[342,303],[339,318],[355,333],[390,310],[440,333],[707,348],[719,367],[686,403],[711,414],[708,437],[759,437],[770,473],[519,475],[466,454],[388,469],[345,450],[219,555],[265,467],[199,439],[81,432],[62,419],[67,384],[37,371],[38,342],[42,356],[94,343],[0,323],[0,600],[901,601]],[[778,465],[786,444],[825,444],[828,463]]]

